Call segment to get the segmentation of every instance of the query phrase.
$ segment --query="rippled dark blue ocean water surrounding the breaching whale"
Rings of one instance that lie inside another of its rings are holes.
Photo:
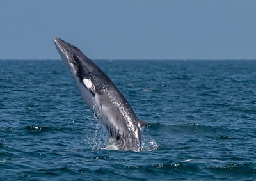
[[[95,61],[143,151],[106,133],[62,61],[0,61],[0,180],[256,180],[256,61]]]

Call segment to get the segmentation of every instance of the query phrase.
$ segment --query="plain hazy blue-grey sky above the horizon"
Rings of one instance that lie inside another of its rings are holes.
[[[0,0],[0,59],[256,59],[256,1]]]

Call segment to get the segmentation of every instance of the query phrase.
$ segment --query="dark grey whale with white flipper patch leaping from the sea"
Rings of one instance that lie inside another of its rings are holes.
[[[145,125],[108,75],[70,43],[54,38],[61,59],[70,70],[84,102],[106,128],[109,144],[118,150],[141,151]]]

